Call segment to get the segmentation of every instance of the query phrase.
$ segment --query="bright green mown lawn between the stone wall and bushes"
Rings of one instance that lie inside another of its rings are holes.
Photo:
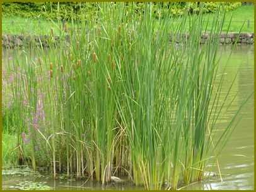
[[[228,29],[229,21],[232,18],[232,23],[229,31],[238,32],[241,29],[242,32],[253,32],[254,29],[254,11],[253,6],[241,6],[240,8],[229,11],[226,14],[226,22],[224,23],[224,31]],[[204,17],[212,20],[214,14],[206,14]],[[250,23],[248,24],[248,20]],[[243,25],[243,22],[245,24]],[[54,29],[54,33],[57,34],[59,29],[52,21],[47,21],[44,19],[32,19],[32,18],[20,18],[20,17],[5,17],[3,16],[2,21],[3,34],[13,34],[13,35],[47,35],[50,33],[50,28]]]

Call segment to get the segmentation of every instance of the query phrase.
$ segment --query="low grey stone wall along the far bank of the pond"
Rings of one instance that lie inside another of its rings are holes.
[[[188,40],[189,35],[183,34],[179,37],[175,37],[176,43],[185,42]],[[254,33],[228,33],[221,34],[218,38],[220,44],[253,44],[254,43]],[[23,35],[2,35],[2,46],[3,48],[15,48],[23,46],[49,46],[50,41],[59,41],[59,36],[54,36],[53,38],[49,35],[32,35],[32,36],[23,36]],[[66,36],[66,41],[69,42],[69,36]],[[170,41],[173,40],[173,36],[170,35]],[[205,34],[201,36],[202,44],[206,43],[209,40],[209,35]]]

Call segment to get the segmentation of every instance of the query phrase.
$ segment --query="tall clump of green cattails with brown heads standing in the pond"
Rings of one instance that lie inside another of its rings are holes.
[[[150,3],[141,16],[122,3],[99,9],[100,19],[61,31],[70,45],[50,38],[47,55],[24,51],[8,62],[18,144],[31,149],[34,169],[49,166],[54,176],[105,184],[127,175],[146,189],[201,181],[237,115],[212,135],[226,101],[219,99],[224,76],[216,82],[224,17],[216,13],[209,30],[202,14],[156,21]],[[168,32],[178,38],[186,23],[189,40],[170,43]],[[206,30],[211,41],[201,46]]]

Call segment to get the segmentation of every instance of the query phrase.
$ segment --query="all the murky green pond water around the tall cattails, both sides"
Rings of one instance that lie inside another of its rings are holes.
[[[230,55],[231,54],[231,55]],[[228,110],[223,110],[221,119],[218,123],[218,129],[223,129],[232,119],[238,107],[252,93],[254,87],[253,78],[253,46],[221,46],[219,49],[221,55],[221,70],[226,65],[226,77],[223,85],[221,97],[225,97],[226,92],[233,78],[237,73],[237,77],[228,101],[233,100]],[[3,50],[3,62],[11,56],[11,51]],[[223,181],[219,176],[212,176],[205,181],[190,184],[185,190],[189,189],[253,189],[254,186],[254,115],[253,115],[253,97],[250,97],[247,104],[244,105],[240,112],[238,123],[235,131],[231,135],[230,140],[223,149],[219,157],[219,165]],[[212,167],[212,172],[218,173],[215,162],[208,165]],[[17,169],[20,170],[20,169]],[[72,189],[72,190],[91,190],[91,189],[113,189],[113,190],[131,190],[143,189],[133,186],[127,181],[122,184],[108,184],[102,186],[95,181],[84,180],[76,181],[74,178],[66,178],[64,175],[58,179],[52,179],[51,174],[36,173],[26,174],[20,171],[4,171],[3,172],[3,189]],[[23,169],[22,169],[23,170]],[[125,178],[124,178],[125,179]],[[49,188],[50,187],[50,188]]]

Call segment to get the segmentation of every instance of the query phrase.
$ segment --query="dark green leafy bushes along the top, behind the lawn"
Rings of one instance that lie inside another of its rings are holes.
[[[130,8],[131,3],[126,4]],[[143,14],[144,3],[136,3],[136,14]],[[187,11],[198,13],[202,6],[204,13],[214,13],[219,6],[227,11],[241,6],[241,3],[154,3],[154,14],[157,18],[165,16],[167,9],[171,9],[173,16],[180,16]],[[4,3],[2,4],[4,16],[21,16],[24,18],[44,19],[91,19],[99,10],[97,3]]]

